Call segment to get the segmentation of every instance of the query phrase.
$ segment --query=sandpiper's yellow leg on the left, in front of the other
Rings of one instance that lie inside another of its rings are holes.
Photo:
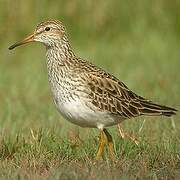
[[[99,148],[98,148],[98,152],[96,154],[96,160],[98,160],[102,156],[102,154],[104,152],[105,144],[106,144],[106,137],[105,137],[104,131],[101,130],[100,137],[99,137]]]

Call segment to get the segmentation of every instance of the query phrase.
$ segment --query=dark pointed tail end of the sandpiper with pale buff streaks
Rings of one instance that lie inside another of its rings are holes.
[[[140,114],[141,115],[148,115],[148,116],[158,116],[158,115],[163,115],[163,116],[172,116],[176,114],[176,109],[155,104],[151,101],[141,101],[140,102],[143,108],[140,108]]]

